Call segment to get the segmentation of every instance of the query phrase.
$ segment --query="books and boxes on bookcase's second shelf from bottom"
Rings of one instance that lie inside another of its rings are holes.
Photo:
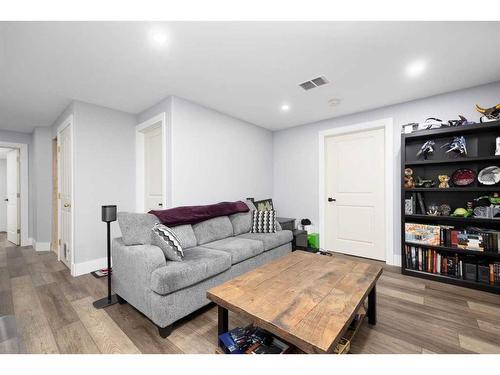
[[[500,232],[492,229],[455,229],[449,225],[405,223],[406,242],[428,246],[458,247],[460,249],[498,253]]]

